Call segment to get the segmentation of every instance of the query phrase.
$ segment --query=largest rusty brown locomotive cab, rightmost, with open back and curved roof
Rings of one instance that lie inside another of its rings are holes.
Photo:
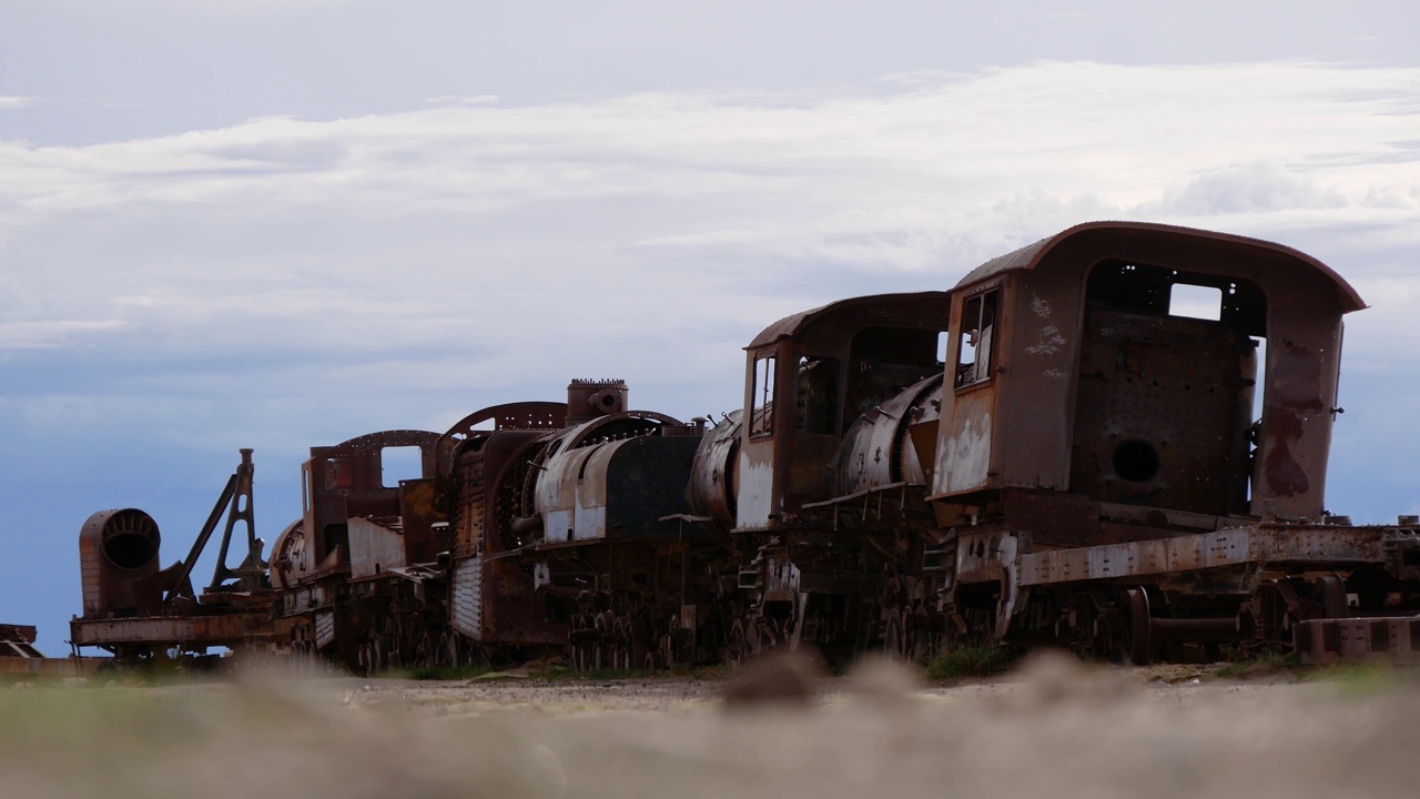
[[[953,299],[939,520],[1012,490],[1193,525],[1319,518],[1340,317],[1360,307],[1296,250],[1164,225],[1081,225],[988,262]]]

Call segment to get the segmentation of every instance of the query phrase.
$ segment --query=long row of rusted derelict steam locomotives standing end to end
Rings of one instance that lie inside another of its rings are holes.
[[[1323,505],[1342,316],[1363,307],[1285,246],[1079,225],[950,291],[771,324],[719,424],[574,381],[567,402],[314,448],[270,560],[243,451],[166,569],[146,513],[84,525],[72,643],[365,670],[922,657],[968,637],[1135,663],[1220,645],[1420,660],[1420,523]],[[392,451],[419,476],[383,485]]]

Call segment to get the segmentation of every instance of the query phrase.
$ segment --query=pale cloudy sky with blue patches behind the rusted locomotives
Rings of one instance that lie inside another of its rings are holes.
[[[169,563],[239,446],[270,542],[312,445],[730,409],[780,316],[1092,219],[1352,280],[1328,505],[1420,512],[1420,7],[1154,6],[0,0],[0,621],[64,654],[84,519]]]

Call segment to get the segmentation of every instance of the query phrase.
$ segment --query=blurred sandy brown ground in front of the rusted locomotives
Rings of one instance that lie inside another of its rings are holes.
[[[1413,674],[1230,682],[1041,660],[807,707],[721,681],[293,678],[0,687],[3,796],[1416,796]]]

